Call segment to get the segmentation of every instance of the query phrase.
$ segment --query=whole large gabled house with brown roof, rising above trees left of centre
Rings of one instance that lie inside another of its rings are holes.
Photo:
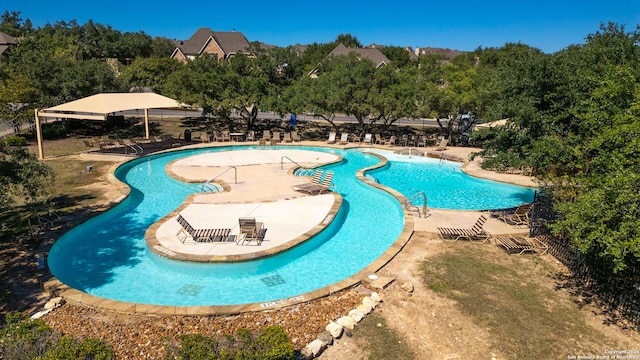
[[[218,60],[223,60],[239,53],[246,53],[248,49],[249,41],[241,32],[222,32],[200,28],[189,40],[180,42],[171,57],[187,61],[209,54]]]

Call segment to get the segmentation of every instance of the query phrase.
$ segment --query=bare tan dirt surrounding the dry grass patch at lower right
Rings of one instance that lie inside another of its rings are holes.
[[[463,313],[455,300],[431,290],[428,287],[429,279],[425,280],[420,270],[420,264],[424,261],[435,259],[460,246],[475,246],[474,251],[481,251],[483,258],[496,264],[512,266],[513,274],[509,276],[523,279],[523,284],[534,283],[540,289],[552,292],[553,296],[543,304],[550,311],[569,309],[577,312],[577,322],[586,324],[587,330],[575,336],[570,332],[549,334],[551,353],[562,352],[552,358],[604,355],[605,350],[612,349],[640,349],[640,336],[637,332],[606,325],[606,319],[594,308],[578,310],[577,299],[569,291],[561,289],[554,276],[557,273],[566,274],[567,270],[550,255],[509,256],[495,245],[445,243],[433,234],[414,233],[407,247],[380,271],[384,275],[395,277],[396,281],[381,291],[384,302],[375,313],[381,315],[387,325],[407,342],[418,359],[510,358],[505,355],[509,350],[504,346],[504,342],[510,339],[496,337],[489,327]],[[412,293],[402,290],[400,286],[404,282],[411,282],[415,290]],[[554,337],[557,341],[554,341]],[[366,339],[343,337],[328,348],[321,358],[368,359],[367,346]]]

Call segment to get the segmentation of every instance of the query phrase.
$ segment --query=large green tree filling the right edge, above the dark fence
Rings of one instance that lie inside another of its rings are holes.
[[[553,55],[489,53],[500,79],[493,111],[514,126],[483,154],[535,166],[560,216],[553,231],[612,273],[640,258],[639,40],[610,23]]]

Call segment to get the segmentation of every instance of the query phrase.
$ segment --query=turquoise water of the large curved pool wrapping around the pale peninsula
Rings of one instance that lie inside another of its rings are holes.
[[[147,228],[200,190],[199,185],[169,177],[165,166],[186,156],[236,149],[247,147],[176,151],[119,167],[116,176],[130,185],[130,196],[61,237],[49,253],[52,273],[92,295],[140,304],[268,302],[352,276],[380,257],[404,228],[395,198],[355,177],[357,170],[377,164],[378,158],[357,150],[301,148],[344,157],[341,163],[325,167],[335,172],[343,204],[336,220],[318,236],[279,255],[242,263],[179,262],[150,252],[144,240]]]

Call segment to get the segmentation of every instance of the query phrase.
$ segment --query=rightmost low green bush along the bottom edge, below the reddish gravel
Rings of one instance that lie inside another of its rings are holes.
[[[167,358],[181,360],[290,360],[293,345],[280,326],[269,326],[258,332],[240,329],[235,336],[209,338],[201,334],[182,335],[179,349]]]

